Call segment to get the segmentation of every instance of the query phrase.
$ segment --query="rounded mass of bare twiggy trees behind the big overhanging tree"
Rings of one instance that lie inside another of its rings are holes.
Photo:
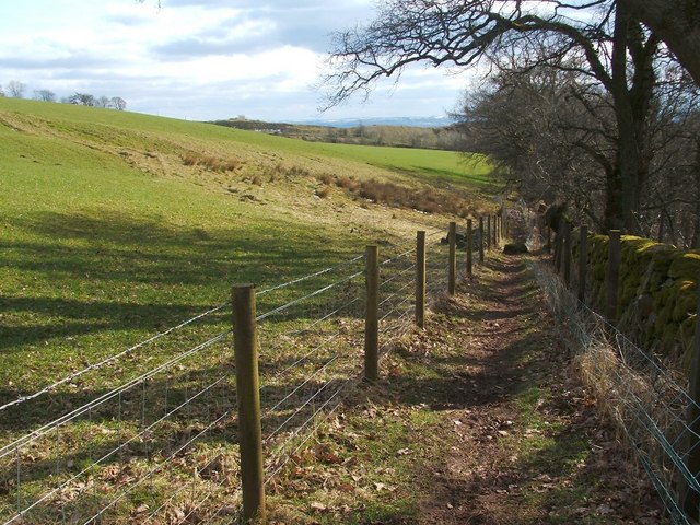
[[[500,71],[467,92],[455,117],[466,150],[487,154],[527,201],[563,202],[604,229],[615,116],[608,96],[574,69]]]

